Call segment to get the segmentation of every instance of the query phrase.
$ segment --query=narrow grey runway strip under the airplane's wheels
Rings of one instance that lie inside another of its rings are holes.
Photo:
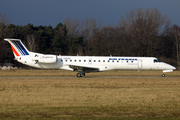
[[[61,78],[78,78],[76,76],[58,76],[58,77],[46,77],[46,76],[38,76],[38,77],[21,77],[21,76],[6,76],[0,77],[0,79],[61,79]],[[79,79],[83,78],[180,78],[180,76],[84,76],[79,77]]]

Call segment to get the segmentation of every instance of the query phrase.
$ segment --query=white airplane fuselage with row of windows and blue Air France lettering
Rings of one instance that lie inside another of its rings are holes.
[[[111,57],[111,56],[57,56],[55,63],[37,63],[32,58],[37,53],[31,52],[30,56],[18,57],[17,60],[23,64],[43,69],[72,70],[70,65],[98,68],[98,70],[86,70],[86,72],[97,72],[107,70],[172,70],[173,66],[157,60],[155,57]],[[43,55],[43,54],[38,54]]]

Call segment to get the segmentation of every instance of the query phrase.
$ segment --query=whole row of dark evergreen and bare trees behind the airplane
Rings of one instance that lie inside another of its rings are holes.
[[[17,38],[29,51],[61,55],[155,56],[179,66],[180,27],[156,8],[131,10],[116,26],[101,20],[68,18],[52,26],[9,24],[0,14],[0,63],[12,62],[4,38]]]

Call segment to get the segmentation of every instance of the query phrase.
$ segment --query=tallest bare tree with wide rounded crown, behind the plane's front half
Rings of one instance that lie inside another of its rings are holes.
[[[162,15],[157,8],[137,9],[127,13],[119,25],[132,37],[132,45],[138,56],[153,56],[156,36],[169,27],[170,19]]]

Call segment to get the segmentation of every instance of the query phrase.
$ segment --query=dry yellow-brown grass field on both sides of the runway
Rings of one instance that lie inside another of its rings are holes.
[[[62,70],[0,71],[0,76],[74,76],[1,78],[0,119],[178,120],[180,71],[167,73],[165,78],[88,78],[161,74],[159,71],[109,71],[77,78],[76,72]]]

